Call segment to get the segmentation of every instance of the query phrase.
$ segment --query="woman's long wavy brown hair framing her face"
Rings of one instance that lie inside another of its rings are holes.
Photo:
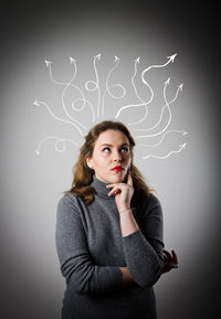
[[[95,190],[91,187],[93,181],[94,170],[91,169],[86,163],[86,158],[93,156],[94,146],[98,136],[108,129],[122,131],[129,141],[129,150],[131,153],[130,173],[133,178],[134,195],[131,199],[131,205],[141,203],[143,200],[147,199],[152,191],[146,184],[139,170],[133,164],[133,148],[135,147],[135,140],[131,137],[127,127],[119,121],[104,120],[95,125],[90,132],[85,136],[85,142],[80,150],[80,157],[77,162],[73,167],[73,181],[72,188],[64,193],[72,193],[82,198],[87,204],[94,201]]]

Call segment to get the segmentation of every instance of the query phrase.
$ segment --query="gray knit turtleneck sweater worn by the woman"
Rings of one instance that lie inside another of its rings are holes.
[[[139,230],[123,237],[115,196],[94,177],[95,200],[65,194],[57,203],[56,249],[66,279],[62,319],[155,319],[152,286],[164,267],[162,213],[150,198],[133,215]],[[134,285],[122,287],[119,267]]]

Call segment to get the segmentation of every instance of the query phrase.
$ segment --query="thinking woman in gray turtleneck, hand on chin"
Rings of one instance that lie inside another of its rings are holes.
[[[133,163],[134,146],[116,121],[85,137],[57,204],[62,319],[157,318],[152,286],[177,259],[164,251],[161,206]]]

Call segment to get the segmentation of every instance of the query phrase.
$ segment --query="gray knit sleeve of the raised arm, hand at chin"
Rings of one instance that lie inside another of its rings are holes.
[[[123,237],[127,267],[141,287],[152,286],[164,268],[162,211],[159,200],[150,194],[140,228]]]

